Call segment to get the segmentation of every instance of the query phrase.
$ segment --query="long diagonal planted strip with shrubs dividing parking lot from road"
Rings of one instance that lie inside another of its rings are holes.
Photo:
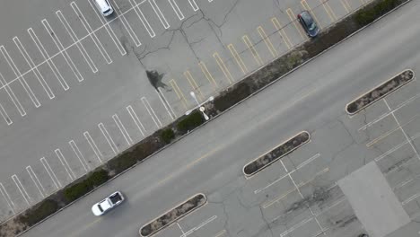
[[[319,56],[328,48],[332,48],[342,40],[346,40],[364,26],[380,18],[383,14],[389,13],[400,4],[410,0],[373,0],[366,4],[363,9],[348,15],[341,22],[325,29],[315,40],[304,42],[301,46],[294,48],[282,57],[276,58],[258,71],[247,76],[239,83],[233,84],[227,90],[214,98],[212,103],[206,104],[206,112],[210,118],[220,116],[224,111],[246,100],[249,96],[262,91],[271,83],[288,75],[298,67],[309,62],[312,58]],[[174,121],[171,125],[163,127],[153,135],[146,137],[143,141],[133,145],[122,154],[104,163],[97,170],[85,174],[82,178],[75,180],[64,189],[58,190],[39,204],[14,215],[0,225],[0,237],[21,235],[36,224],[42,222],[49,216],[71,205],[79,198],[88,195],[92,190],[97,189],[107,180],[118,177],[125,171],[144,162],[153,154],[159,153],[165,145],[172,144],[188,133],[197,129],[205,122],[199,112],[193,112]],[[164,130],[164,132],[163,132]],[[99,172],[99,173],[97,173]],[[103,173],[107,175],[103,175]],[[96,177],[96,178],[92,178]],[[99,178],[99,179],[98,179]],[[82,184],[81,184],[82,183]],[[70,191],[67,189],[71,189]]]

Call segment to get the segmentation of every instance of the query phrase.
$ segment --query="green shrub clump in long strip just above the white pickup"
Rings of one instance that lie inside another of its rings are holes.
[[[102,183],[109,180],[108,172],[105,170],[94,171],[91,174],[88,174],[86,180],[83,180],[79,183],[66,188],[64,190],[64,196],[66,202],[70,203],[77,198],[82,197],[95,187],[100,186]]]

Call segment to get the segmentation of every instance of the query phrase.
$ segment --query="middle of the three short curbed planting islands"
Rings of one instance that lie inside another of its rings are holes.
[[[265,169],[268,165],[276,162],[278,159],[284,157],[286,154],[292,153],[298,147],[308,143],[311,139],[307,131],[302,131],[299,134],[285,141],[282,145],[278,145],[275,149],[267,154],[264,154],[252,162],[247,163],[243,167],[243,173],[246,176],[252,176],[259,171]]]

